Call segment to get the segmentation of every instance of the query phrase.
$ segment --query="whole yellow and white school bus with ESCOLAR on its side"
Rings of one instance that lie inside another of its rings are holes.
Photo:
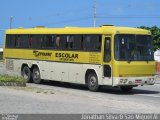
[[[43,80],[133,87],[155,83],[150,31],[103,25],[96,28],[17,28],[6,30],[6,69],[27,82]]]

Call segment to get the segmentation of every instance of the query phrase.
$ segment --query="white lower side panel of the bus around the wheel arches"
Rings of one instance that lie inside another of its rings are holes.
[[[41,79],[78,84],[86,84],[84,79],[86,71],[92,69],[97,74],[99,85],[104,85],[104,83],[102,82],[103,67],[101,65],[9,58],[6,59],[6,64],[8,65],[6,66],[7,70],[17,73],[21,73],[21,67],[23,64],[27,65],[29,68],[31,68],[33,65],[37,65],[41,73]]]

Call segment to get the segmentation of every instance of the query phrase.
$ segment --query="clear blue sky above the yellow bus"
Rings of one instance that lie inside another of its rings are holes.
[[[93,27],[93,6],[96,26],[158,26],[160,0],[0,0],[0,46],[4,31],[12,28]]]

